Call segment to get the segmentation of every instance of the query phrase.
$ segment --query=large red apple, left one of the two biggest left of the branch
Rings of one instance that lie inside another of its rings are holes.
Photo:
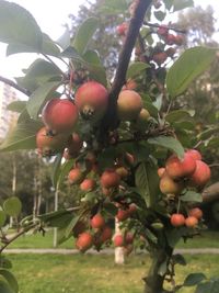
[[[68,99],[51,99],[44,106],[42,119],[55,134],[70,133],[78,121],[78,110]]]

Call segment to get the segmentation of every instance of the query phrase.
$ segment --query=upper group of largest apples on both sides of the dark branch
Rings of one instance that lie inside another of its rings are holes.
[[[74,99],[67,97],[49,100],[42,111],[45,124],[36,134],[38,153],[50,156],[66,148],[67,157],[77,157],[83,146],[79,134],[72,133],[81,119],[99,122],[106,112],[108,92],[96,81],[87,81],[78,88]],[[134,90],[123,89],[117,100],[117,115],[120,121],[143,123],[148,111],[142,108],[141,97]]]

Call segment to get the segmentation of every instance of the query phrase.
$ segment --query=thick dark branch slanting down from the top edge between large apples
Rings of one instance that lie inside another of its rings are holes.
[[[139,0],[134,16],[130,20],[127,36],[118,57],[118,66],[116,69],[114,82],[108,97],[108,110],[103,119],[103,124],[102,124],[103,126],[101,132],[102,139],[103,139],[102,135],[105,135],[108,128],[115,128],[117,125],[117,116],[116,116],[117,98],[122,87],[126,82],[126,72],[128,69],[131,53],[136,44],[136,40],[138,37],[140,27],[143,23],[146,11],[151,4],[151,1],[152,0]]]

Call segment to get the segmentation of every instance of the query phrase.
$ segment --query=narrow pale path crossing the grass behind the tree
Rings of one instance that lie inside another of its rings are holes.
[[[79,251],[77,249],[62,249],[62,248],[48,248],[48,249],[35,249],[35,248],[16,248],[16,249],[5,249],[4,253],[34,253],[34,255],[44,255],[44,253],[50,253],[50,255],[77,255]],[[92,255],[113,255],[113,249],[104,249],[100,252],[96,250],[89,250],[88,253]],[[137,251],[137,253],[143,253],[141,251]],[[219,248],[185,248],[185,249],[176,249],[175,253],[183,253],[183,255],[219,255]]]

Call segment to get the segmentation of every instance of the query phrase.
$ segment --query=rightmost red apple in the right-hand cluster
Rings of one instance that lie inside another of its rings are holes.
[[[196,160],[195,172],[191,177],[193,185],[203,187],[210,180],[210,168],[201,160]]]

